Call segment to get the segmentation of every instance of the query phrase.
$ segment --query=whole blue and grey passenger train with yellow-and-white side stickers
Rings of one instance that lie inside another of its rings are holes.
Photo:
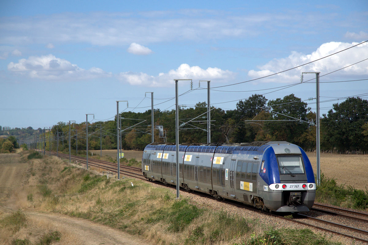
[[[238,144],[151,143],[144,149],[146,179],[275,212],[308,212],[316,183],[305,151],[286,141]]]

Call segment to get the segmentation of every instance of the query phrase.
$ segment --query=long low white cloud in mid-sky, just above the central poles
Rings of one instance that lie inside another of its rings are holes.
[[[202,69],[199,66],[189,66],[181,64],[177,69],[172,69],[167,73],[159,73],[158,76],[148,75],[146,73],[121,72],[118,79],[128,82],[131,85],[144,85],[150,87],[164,87],[167,84],[173,84],[174,79],[193,79],[193,80],[212,80],[223,81],[234,79],[235,73],[229,70],[209,67]]]

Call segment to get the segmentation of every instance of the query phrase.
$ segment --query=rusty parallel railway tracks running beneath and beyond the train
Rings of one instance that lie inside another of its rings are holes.
[[[56,154],[52,152],[52,155],[58,155],[60,158],[69,159],[69,154]],[[71,160],[77,163],[86,164],[86,158],[81,156],[71,156]],[[88,165],[99,167],[111,172],[117,173],[117,163],[107,162],[103,160],[88,158]],[[120,174],[125,176],[135,177],[138,179],[146,180],[142,176],[142,170],[138,167],[120,165]],[[156,182],[156,184],[164,185],[163,183]],[[167,185],[165,185],[167,186]],[[184,190],[183,190],[184,191]],[[190,191],[192,192],[192,191]],[[201,192],[196,192],[206,198],[213,198],[209,195]],[[225,203],[238,206],[240,208],[248,208],[255,212],[262,212],[258,209],[250,206],[244,206],[243,204],[222,200]],[[368,215],[366,213],[356,212],[352,210],[346,210],[342,208],[335,208],[322,204],[315,204],[310,212],[306,214],[292,213],[293,218],[276,215],[273,213],[262,212],[266,215],[272,215],[279,217],[280,219],[287,219],[292,222],[303,224],[309,227],[313,227],[322,231],[328,231],[331,233],[339,234],[344,237],[349,237],[360,242],[368,243]],[[338,217],[338,218],[337,218]]]

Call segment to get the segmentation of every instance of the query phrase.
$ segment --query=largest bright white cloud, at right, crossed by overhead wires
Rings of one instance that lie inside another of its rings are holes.
[[[259,66],[259,71],[250,70],[248,75],[252,79],[261,78],[277,72],[281,72],[308,62],[318,60],[319,58],[328,56],[338,51],[344,50],[348,47],[354,46],[358,43],[342,43],[342,42],[329,42],[323,43],[316,51],[311,54],[302,54],[298,52],[292,52],[286,58],[273,59],[267,64]],[[345,66],[352,65],[358,61],[365,60],[368,54],[368,43],[363,43],[357,47],[350,48],[346,51],[342,51],[338,54],[324,58],[322,60],[313,62],[311,64],[301,66],[296,69],[292,69],[287,72],[283,72],[269,78],[261,79],[261,82],[280,82],[280,83],[295,83],[300,81],[300,75],[302,72],[321,72],[324,75],[329,72],[336,71]],[[344,75],[359,76],[368,75],[368,61],[363,61],[353,66],[349,66],[341,71],[332,73],[329,78],[341,77]]]

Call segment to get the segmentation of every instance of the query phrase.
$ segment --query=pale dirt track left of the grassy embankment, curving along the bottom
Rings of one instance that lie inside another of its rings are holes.
[[[19,154],[0,154],[0,212],[11,213],[17,210],[17,199],[12,197],[14,192],[28,183],[27,169],[28,163],[22,163]],[[46,223],[46,227],[61,231],[62,236],[72,237],[72,242],[70,239],[61,239],[57,242],[58,245],[149,244],[142,238],[77,217],[26,210],[24,213],[35,223]]]

